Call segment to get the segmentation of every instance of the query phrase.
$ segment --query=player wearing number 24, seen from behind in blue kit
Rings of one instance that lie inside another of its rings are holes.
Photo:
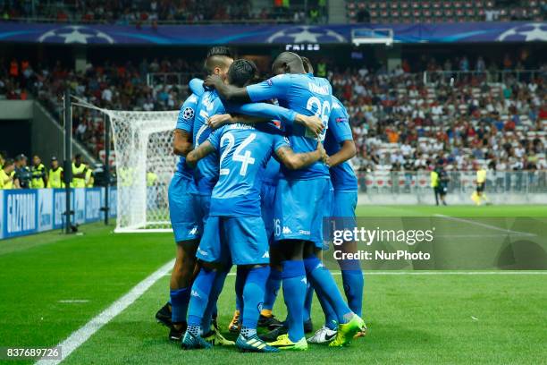
[[[231,84],[244,86],[256,74],[255,64],[247,60],[235,61],[228,72]],[[288,123],[296,113],[280,106],[262,105],[277,110],[278,118]],[[187,164],[199,165],[214,152],[220,153],[219,180],[211,197],[209,217],[197,257],[202,262],[192,285],[189,304],[189,327],[182,346],[186,349],[210,348],[201,336],[200,324],[206,312],[207,299],[213,293],[215,275],[227,271],[231,264],[238,266],[236,294],[242,305],[242,328],[236,345],[248,352],[278,352],[257,336],[259,309],[265,296],[265,282],[269,275],[269,247],[260,209],[259,175],[267,161],[275,154],[290,170],[316,163],[325,157],[319,143],[316,149],[296,154],[289,141],[272,124],[252,126],[232,123],[209,135],[199,147],[190,152]]]

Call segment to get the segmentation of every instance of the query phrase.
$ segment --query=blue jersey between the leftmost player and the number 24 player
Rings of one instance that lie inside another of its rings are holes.
[[[205,142],[211,134],[207,120],[217,114],[224,114],[223,102],[215,90],[206,90],[199,98],[196,115],[194,116],[194,148]],[[218,180],[218,155],[213,153],[198,161],[194,169],[194,178],[199,194],[210,195]]]

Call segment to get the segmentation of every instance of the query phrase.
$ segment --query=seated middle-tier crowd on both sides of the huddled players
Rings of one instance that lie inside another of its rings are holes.
[[[525,57],[526,58],[526,57]],[[173,110],[186,98],[190,71],[199,64],[177,60],[143,60],[140,64],[88,64],[74,72],[28,61],[0,60],[0,95],[38,98],[60,115],[63,81],[89,103],[120,110]],[[437,62],[404,61],[394,71],[365,67],[331,70],[334,93],[351,116],[358,146],[354,165],[361,171],[419,171],[437,164],[470,170],[476,164],[498,171],[545,169],[547,65],[506,55],[500,64],[467,56]],[[453,70],[458,72],[455,73]],[[423,73],[427,70],[428,82]],[[502,73],[503,79],[498,77]],[[147,84],[148,72],[181,72],[179,85]],[[455,77],[451,83],[450,78]],[[74,108],[74,136],[97,156],[104,149],[101,115]]]

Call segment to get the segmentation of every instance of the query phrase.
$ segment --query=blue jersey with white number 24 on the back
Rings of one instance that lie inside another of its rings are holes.
[[[261,216],[261,172],[274,151],[290,146],[289,140],[266,123],[234,123],[213,132],[209,141],[220,154],[209,216]]]

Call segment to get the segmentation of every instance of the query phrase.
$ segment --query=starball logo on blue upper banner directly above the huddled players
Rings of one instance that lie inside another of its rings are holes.
[[[267,43],[341,43],[345,41],[346,38],[334,30],[309,25],[286,28],[273,33],[266,39]]]

